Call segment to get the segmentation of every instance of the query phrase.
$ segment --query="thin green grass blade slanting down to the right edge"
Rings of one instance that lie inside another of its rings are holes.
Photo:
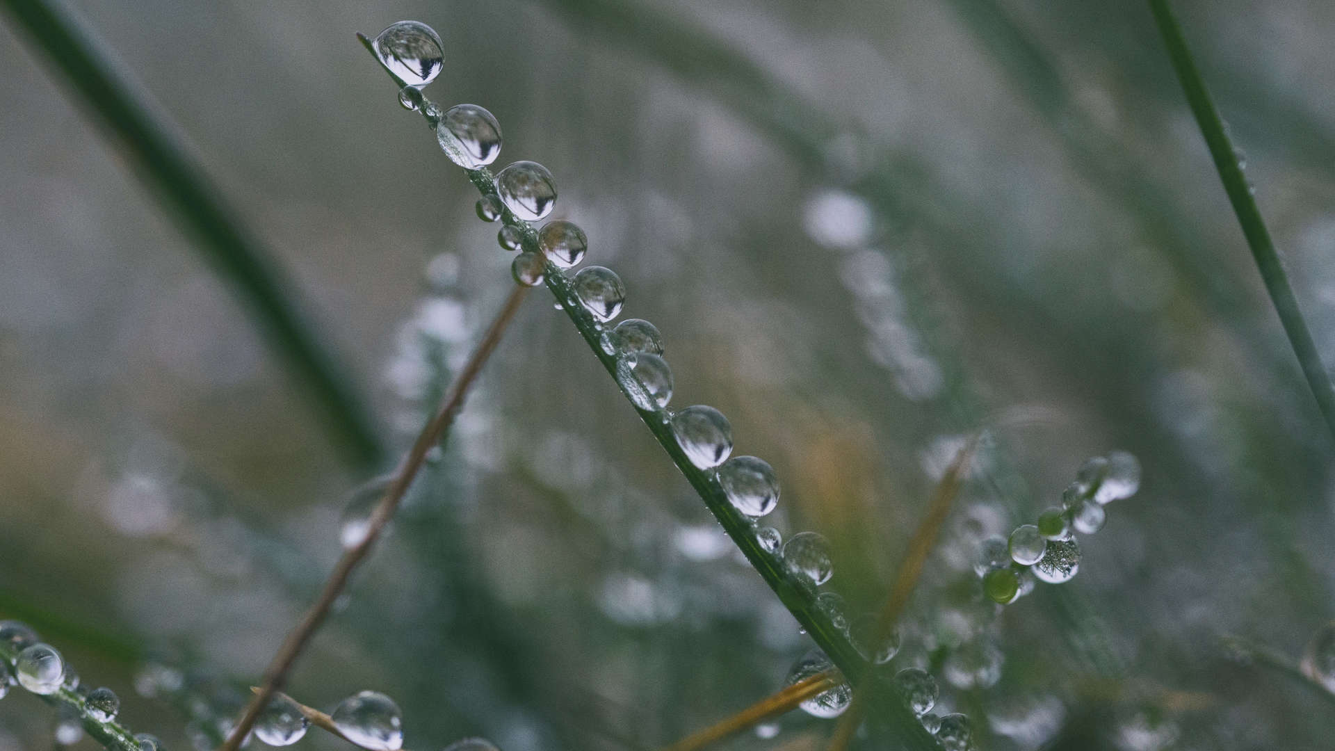
[[[1326,418],[1326,426],[1330,429],[1331,437],[1335,437],[1335,389],[1331,388],[1330,373],[1322,363],[1312,334],[1298,307],[1298,298],[1294,297],[1288,275],[1279,261],[1279,254],[1275,253],[1270,230],[1266,229],[1266,222],[1256,207],[1256,199],[1252,198],[1247,178],[1243,176],[1242,167],[1238,164],[1234,144],[1230,142],[1228,134],[1224,132],[1224,123],[1206,90],[1200,71],[1196,69],[1191,51],[1187,49],[1187,40],[1183,37],[1177,19],[1173,17],[1172,9],[1168,7],[1168,0],[1149,0],[1149,9],[1153,12],[1155,23],[1163,35],[1164,47],[1168,48],[1168,57],[1177,72],[1177,80],[1181,82],[1191,112],[1196,118],[1196,124],[1200,126],[1202,135],[1206,136],[1206,146],[1210,147],[1219,179],[1224,183],[1228,202],[1234,204],[1238,222],[1243,226],[1243,235],[1247,238],[1252,258],[1256,259],[1260,277],[1266,282],[1266,291],[1270,293],[1270,299],[1275,303],[1275,311],[1279,313],[1279,321],[1284,326],[1284,333],[1288,334],[1288,343],[1294,347],[1298,363],[1303,367],[1307,385],[1311,386],[1312,396],[1316,397],[1316,406],[1320,408],[1322,416]]]

